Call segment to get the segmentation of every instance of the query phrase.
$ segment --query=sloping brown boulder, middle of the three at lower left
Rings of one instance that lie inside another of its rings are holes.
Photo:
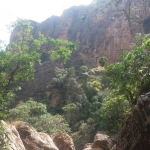
[[[38,133],[28,123],[15,122],[14,125],[20,134],[26,150],[58,150],[47,134]]]

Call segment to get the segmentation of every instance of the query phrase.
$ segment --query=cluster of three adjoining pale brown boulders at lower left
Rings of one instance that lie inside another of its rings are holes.
[[[26,122],[18,121],[8,125],[1,121],[1,124],[7,133],[2,136],[8,144],[8,150],[75,150],[73,140],[67,133],[58,133],[52,140],[48,134],[37,132]]]

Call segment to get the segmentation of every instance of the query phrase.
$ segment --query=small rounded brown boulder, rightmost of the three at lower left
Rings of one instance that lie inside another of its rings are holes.
[[[59,150],[75,150],[72,138],[67,133],[58,133],[53,141]]]

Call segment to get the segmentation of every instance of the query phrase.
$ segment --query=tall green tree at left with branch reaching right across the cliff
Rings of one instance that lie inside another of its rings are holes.
[[[34,79],[34,64],[40,62],[40,49],[43,44],[50,44],[55,56],[62,57],[66,62],[75,44],[64,40],[45,38],[39,33],[36,38],[31,34],[32,26],[29,21],[19,19],[13,24],[16,33],[15,42],[0,46],[0,118],[7,118],[7,106],[14,98],[14,91],[20,87],[13,86],[21,81]],[[2,43],[3,44],[3,43]],[[54,57],[56,58],[56,57]]]

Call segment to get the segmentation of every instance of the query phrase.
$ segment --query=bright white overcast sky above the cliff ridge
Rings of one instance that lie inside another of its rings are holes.
[[[9,42],[8,26],[17,18],[42,22],[61,16],[71,6],[88,5],[92,0],[0,0],[0,40]]]

